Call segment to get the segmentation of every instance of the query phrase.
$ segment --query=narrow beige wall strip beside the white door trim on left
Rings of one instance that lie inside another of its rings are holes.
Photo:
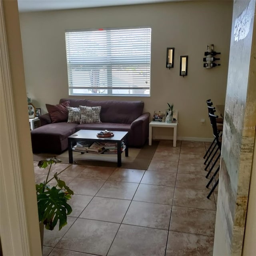
[[[10,75],[13,92],[13,103],[16,125],[16,139],[18,152],[20,154],[20,162],[16,163],[20,166],[23,191],[18,191],[24,196],[24,204],[26,207],[26,219],[28,224],[28,240],[30,241],[31,255],[41,255],[40,234],[38,222],[38,210],[36,202],[36,188],[34,180],[34,168],[32,158],[32,147],[30,138],[30,128],[28,122],[28,108],[26,101],[26,86],[24,77],[24,67],[22,59],[22,46],[19,26],[19,15],[17,1],[3,1],[4,20],[6,25],[6,35],[8,42],[8,52],[10,61]],[[4,92],[1,92],[4,94]],[[10,95],[5,95],[10,99]],[[2,117],[2,116],[1,116]],[[12,130],[10,128],[10,130]],[[1,132],[3,132],[1,130]],[[10,132],[10,131],[9,131]],[[7,136],[7,134],[1,134]],[[1,144],[4,149],[4,145]],[[10,161],[11,156],[6,156],[6,152],[2,150],[2,158]],[[4,171],[8,171],[4,170]],[[14,182],[14,181],[13,181]],[[18,187],[18,186],[17,186]],[[20,202],[22,203],[22,202]],[[10,221],[10,220],[9,220]],[[6,219],[6,224],[8,220]],[[1,234],[2,235],[2,234]],[[5,246],[3,246],[4,250]],[[4,255],[10,255],[4,252]]]

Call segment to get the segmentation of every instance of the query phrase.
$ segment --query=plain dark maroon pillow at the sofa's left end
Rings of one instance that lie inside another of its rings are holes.
[[[67,122],[68,121],[68,109],[67,107],[70,106],[70,101],[67,100],[61,104],[58,105],[50,105],[45,104],[49,114],[50,118],[52,120],[52,123],[58,123],[58,122]]]

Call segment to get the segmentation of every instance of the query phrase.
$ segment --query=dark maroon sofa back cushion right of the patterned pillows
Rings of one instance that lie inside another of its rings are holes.
[[[142,115],[144,102],[128,100],[87,100],[86,106],[101,106],[101,122],[131,124],[136,118]]]

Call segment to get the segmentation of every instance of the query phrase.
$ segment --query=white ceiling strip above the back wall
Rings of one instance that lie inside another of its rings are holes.
[[[174,1],[182,0],[18,0],[18,9],[19,12],[36,12]]]

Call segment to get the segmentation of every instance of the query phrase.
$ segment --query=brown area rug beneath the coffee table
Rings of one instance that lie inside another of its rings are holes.
[[[142,148],[129,148],[129,156],[126,157],[124,152],[122,153],[122,166],[120,168],[128,169],[141,169],[147,170],[151,162],[152,157],[158,146],[158,141],[153,141],[152,146],[148,146],[146,143]],[[54,154],[34,154],[34,161],[40,161],[45,158],[56,156],[62,160],[62,163],[69,163],[68,150],[60,155]],[[93,166],[117,166],[116,154],[81,154],[80,152],[73,152],[74,164],[84,164]]]

